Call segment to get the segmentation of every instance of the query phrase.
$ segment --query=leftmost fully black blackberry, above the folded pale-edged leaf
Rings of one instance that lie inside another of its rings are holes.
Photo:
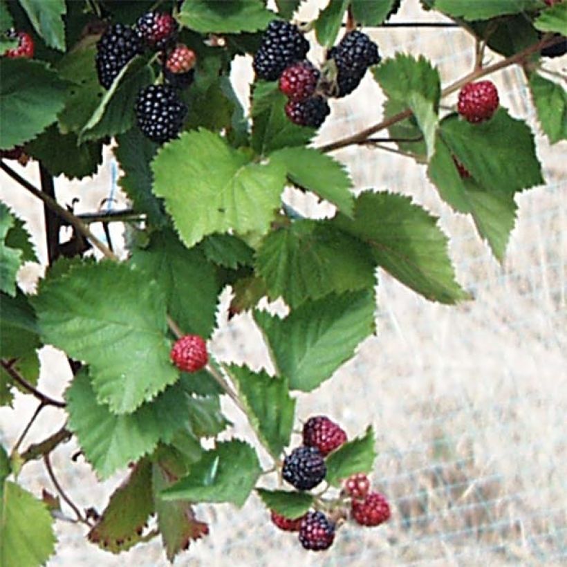
[[[95,64],[98,82],[109,89],[122,68],[142,50],[140,38],[128,26],[114,24],[106,28],[97,41]]]

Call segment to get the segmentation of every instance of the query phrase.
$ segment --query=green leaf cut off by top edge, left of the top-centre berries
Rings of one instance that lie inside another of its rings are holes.
[[[262,30],[274,17],[261,0],[191,0],[181,6],[178,20],[196,32],[240,33]]]

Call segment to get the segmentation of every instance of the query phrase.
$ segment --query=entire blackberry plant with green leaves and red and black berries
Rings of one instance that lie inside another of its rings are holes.
[[[47,250],[31,291],[19,275],[39,262],[37,234],[0,203],[0,405],[21,422],[19,438],[0,446],[2,565],[45,564],[60,519],[115,553],[160,535],[174,561],[214,536],[199,503],[258,498],[280,537],[315,551],[341,530],[396,517],[371,487],[373,427],[347,435],[328,416],[296,416],[297,396],[316,391],[375,333],[377,267],[429,301],[472,297],[436,217],[408,196],[355,187],[334,152],[364,145],[380,160],[375,135],[389,136],[389,150],[425,165],[440,197],[471,216],[503,261],[516,194],[544,180],[532,129],[488,77],[518,66],[549,142],[567,139],[567,95],[547,67],[565,49],[559,0],[422,0],[476,37],[474,67],[443,87],[427,53],[400,45],[381,59],[388,28],[375,28],[399,0],[333,1],[313,21],[299,2],[278,1],[277,12],[261,0],[158,4],[160,12],[146,2],[0,2],[0,168],[44,203]],[[232,84],[242,55],[254,75],[250,108]],[[383,109],[373,108],[374,124],[329,139],[340,99],[363,77],[381,89]],[[57,196],[57,178],[97,175],[109,146],[130,206],[77,214]],[[41,187],[26,178],[35,167]],[[293,210],[286,187],[333,213]],[[120,253],[110,223],[124,225]],[[228,306],[219,302],[225,290]],[[260,307],[277,299],[285,317]],[[245,312],[272,373],[214,354],[214,332]],[[46,345],[65,353],[73,375],[57,396],[38,383]],[[31,416],[13,405],[24,395],[37,400]],[[244,439],[232,435],[223,397],[248,421]],[[370,401],[369,412],[382,400]],[[28,444],[46,407],[64,425]],[[122,476],[108,502],[81,509],[57,481],[50,456],[71,438],[97,478]],[[21,484],[38,459],[61,499]]]

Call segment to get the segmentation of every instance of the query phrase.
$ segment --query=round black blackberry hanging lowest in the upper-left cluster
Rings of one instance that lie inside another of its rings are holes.
[[[151,84],[142,89],[136,100],[138,127],[150,140],[167,142],[183,128],[187,106],[168,85]]]

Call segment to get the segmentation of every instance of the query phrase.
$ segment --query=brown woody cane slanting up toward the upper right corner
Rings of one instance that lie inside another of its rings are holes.
[[[445,87],[445,89],[441,91],[441,97],[446,97],[447,95],[450,95],[455,91],[458,91],[463,86],[465,86],[465,84],[470,83],[476,79],[485,77],[486,75],[490,75],[491,73],[495,73],[496,71],[501,71],[501,69],[509,67],[510,65],[519,63],[523,59],[526,59],[526,57],[528,57],[529,55],[532,55],[532,53],[537,53],[542,48],[559,43],[560,39],[561,38],[557,38],[557,37],[552,39],[550,39],[549,37],[544,37],[543,39],[541,39],[541,41],[538,41],[537,44],[533,44],[527,47],[526,49],[521,50],[519,53],[516,53],[515,55],[506,57],[505,59],[502,59],[502,61],[494,63],[490,66],[480,69],[475,69],[474,71],[472,71],[472,73],[465,75],[458,81]],[[369,138],[369,136],[372,136],[373,134],[380,132],[381,130],[387,129],[393,126],[393,124],[397,124],[401,120],[405,120],[405,118],[409,118],[411,115],[412,115],[411,110],[405,109],[404,111],[399,112],[398,114],[395,114],[390,118],[387,118],[386,120],[382,120],[382,122],[378,122],[378,124],[375,124],[374,126],[366,128],[356,134],[353,134],[352,136],[346,136],[346,138],[342,138],[341,140],[336,140],[335,142],[331,142],[329,144],[319,146],[317,149],[319,149],[319,151],[326,153],[350,145],[360,144],[361,142],[364,142],[366,138]]]

